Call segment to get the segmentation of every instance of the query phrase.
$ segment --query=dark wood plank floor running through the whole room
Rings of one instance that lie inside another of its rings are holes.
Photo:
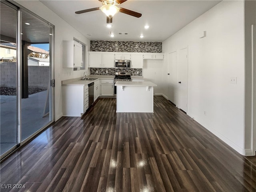
[[[116,113],[100,98],[63,117],[1,164],[30,192],[255,192],[256,166],[162,96],[155,113]]]

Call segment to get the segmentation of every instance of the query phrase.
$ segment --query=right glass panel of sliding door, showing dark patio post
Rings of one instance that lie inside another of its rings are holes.
[[[51,28],[22,11],[21,140],[48,124],[51,98]]]

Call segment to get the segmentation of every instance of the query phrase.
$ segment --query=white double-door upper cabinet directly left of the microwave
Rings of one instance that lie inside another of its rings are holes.
[[[94,52],[89,53],[89,67],[96,68],[114,68],[114,53],[113,52]]]

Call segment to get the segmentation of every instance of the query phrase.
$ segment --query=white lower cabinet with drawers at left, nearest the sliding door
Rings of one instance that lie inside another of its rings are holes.
[[[88,96],[88,85],[62,86],[63,116],[82,116],[88,109]]]

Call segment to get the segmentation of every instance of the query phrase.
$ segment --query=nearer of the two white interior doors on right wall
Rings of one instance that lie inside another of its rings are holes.
[[[178,108],[188,112],[188,48],[180,50]]]

